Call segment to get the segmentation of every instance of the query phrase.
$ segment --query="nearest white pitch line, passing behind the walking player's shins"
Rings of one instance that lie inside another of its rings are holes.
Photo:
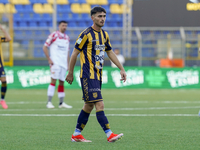
[[[78,114],[0,114],[0,116],[12,117],[74,117]],[[96,116],[91,114],[90,116]],[[114,117],[197,117],[197,114],[106,114]]]

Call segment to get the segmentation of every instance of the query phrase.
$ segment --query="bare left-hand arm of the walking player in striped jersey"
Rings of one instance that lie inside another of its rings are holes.
[[[74,49],[74,51],[72,52],[72,55],[71,55],[71,59],[70,59],[70,62],[69,62],[69,72],[68,72],[67,77],[65,79],[69,84],[72,84],[72,82],[74,80],[74,76],[73,76],[74,67],[75,67],[77,56],[78,56],[79,53],[80,53],[80,51],[78,51],[77,49]]]

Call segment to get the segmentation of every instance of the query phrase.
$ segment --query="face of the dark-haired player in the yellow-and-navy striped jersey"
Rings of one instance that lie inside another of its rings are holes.
[[[96,26],[103,27],[106,21],[106,13],[97,12],[96,14],[93,15],[92,20]]]

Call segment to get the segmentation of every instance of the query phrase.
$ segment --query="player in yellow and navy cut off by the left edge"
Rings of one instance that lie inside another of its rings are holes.
[[[0,104],[4,109],[8,108],[8,105],[5,102],[5,95],[7,91],[7,83],[6,83],[6,74],[3,67],[3,55],[2,55],[2,49],[1,49],[1,43],[3,42],[9,42],[11,40],[10,35],[3,29],[3,27],[0,24],[0,30],[3,32],[4,36],[0,36],[0,80],[1,80],[1,101]]]

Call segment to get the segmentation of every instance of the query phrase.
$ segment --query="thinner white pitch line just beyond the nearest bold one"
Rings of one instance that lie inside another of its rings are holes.
[[[171,110],[171,109],[191,109],[199,108],[200,106],[188,106],[188,107],[147,107],[147,108],[105,108],[104,110]],[[69,110],[81,110],[81,108],[72,108],[72,109],[0,109],[0,112],[7,111],[69,111]]]

